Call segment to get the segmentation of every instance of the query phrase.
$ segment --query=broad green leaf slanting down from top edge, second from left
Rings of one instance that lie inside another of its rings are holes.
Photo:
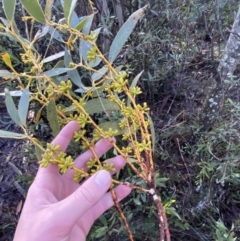
[[[40,23],[46,23],[43,10],[38,0],[20,0],[27,12]]]

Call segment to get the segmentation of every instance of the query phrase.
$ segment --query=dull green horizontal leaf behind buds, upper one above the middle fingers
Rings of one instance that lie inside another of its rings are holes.
[[[86,105],[83,106],[88,114],[96,114],[101,112],[106,112],[109,110],[119,110],[120,107],[115,102],[104,98],[96,98],[89,100]]]

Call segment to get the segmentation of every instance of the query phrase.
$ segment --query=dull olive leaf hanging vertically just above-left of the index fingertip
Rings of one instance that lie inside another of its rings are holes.
[[[57,118],[57,107],[54,100],[50,100],[47,106],[47,119],[52,129],[53,136],[56,136],[60,131],[60,126]]]

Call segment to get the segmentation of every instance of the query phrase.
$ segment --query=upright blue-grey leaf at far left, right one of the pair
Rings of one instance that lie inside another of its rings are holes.
[[[26,119],[27,119],[29,101],[30,101],[30,92],[28,89],[25,89],[22,93],[22,96],[18,104],[18,115],[20,117],[20,121],[22,125],[25,127],[27,126]]]

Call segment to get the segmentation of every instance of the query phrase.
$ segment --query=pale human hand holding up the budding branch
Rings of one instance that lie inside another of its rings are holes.
[[[53,140],[65,151],[73,134],[79,129],[77,122],[65,126]],[[100,157],[112,148],[107,140],[100,140],[94,149]],[[74,165],[85,168],[92,158],[86,151],[76,158]],[[116,156],[107,160],[116,170],[124,167],[125,159]],[[106,210],[113,206],[111,175],[105,170],[98,171],[83,184],[73,181],[73,171],[60,175],[55,165],[39,167],[37,176],[29,188],[28,195],[16,229],[14,241],[83,241],[93,225]],[[124,185],[115,188],[118,201],[125,198],[131,189]]]

